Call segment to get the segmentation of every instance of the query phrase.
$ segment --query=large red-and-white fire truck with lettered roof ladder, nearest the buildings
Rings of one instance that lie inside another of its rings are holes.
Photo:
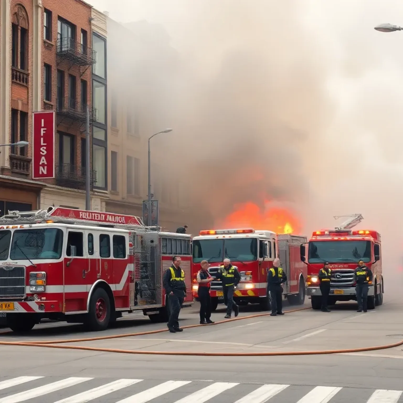
[[[139,217],[49,208],[0,218],[0,314],[16,332],[42,318],[104,330],[123,312],[167,320],[162,274],[181,256],[191,292],[191,237]]]

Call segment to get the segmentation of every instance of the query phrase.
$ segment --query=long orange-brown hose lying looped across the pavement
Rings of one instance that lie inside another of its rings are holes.
[[[306,309],[311,309],[310,307],[307,308],[300,308],[295,310],[286,311],[286,313],[291,312],[298,312]],[[238,318],[222,320],[219,322],[215,322],[214,324],[208,325],[188,325],[182,326],[182,328],[194,328],[199,326],[215,326],[222,323],[233,322],[235,320],[243,320],[243,319],[251,319],[251,318],[258,318],[261,316],[268,316],[269,313],[266,314],[256,314],[256,315],[249,315],[249,316],[241,316]],[[86,351],[100,351],[105,353],[124,353],[124,354],[146,354],[146,355],[191,355],[191,356],[216,356],[216,357],[263,357],[263,356],[279,356],[279,355],[319,355],[319,354],[340,354],[340,353],[358,353],[362,351],[374,351],[374,350],[385,350],[391,349],[393,347],[399,347],[403,345],[403,340],[393,344],[386,344],[380,346],[372,346],[372,347],[360,347],[360,348],[353,348],[353,349],[341,349],[341,350],[314,350],[314,351],[265,351],[265,352],[258,352],[258,353],[212,353],[212,352],[201,352],[201,351],[144,351],[144,350],[123,350],[123,349],[108,349],[102,347],[85,347],[85,346],[66,346],[60,345],[63,343],[78,343],[83,341],[98,341],[98,340],[106,340],[106,339],[118,339],[122,337],[135,337],[135,336],[143,336],[145,334],[156,334],[167,332],[168,329],[159,329],[159,330],[151,330],[148,332],[138,332],[138,333],[126,333],[126,334],[114,334],[110,336],[101,336],[101,337],[89,337],[85,339],[64,339],[64,340],[46,340],[46,341],[39,341],[39,342],[13,342],[13,341],[0,341],[0,345],[12,345],[12,346],[27,346],[27,347],[48,347],[54,349],[71,349],[71,350],[86,350]]]

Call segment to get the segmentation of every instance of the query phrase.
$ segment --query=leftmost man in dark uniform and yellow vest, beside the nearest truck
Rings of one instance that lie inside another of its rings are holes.
[[[164,289],[168,295],[169,304],[169,320],[167,323],[171,333],[182,332],[179,327],[179,312],[181,312],[183,300],[186,298],[185,272],[181,269],[181,258],[174,256],[172,258],[172,266],[165,270],[164,273]]]

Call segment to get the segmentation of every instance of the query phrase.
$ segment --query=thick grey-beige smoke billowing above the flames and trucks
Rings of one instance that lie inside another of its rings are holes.
[[[400,3],[92,3],[125,23],[154,18],[172,37],[167,51],[161,27],[145,35],[146,23],[128,25],[141,45],[130,39],[114,70],[135,81],[123,87],[150,133],[174,128],[153,156],[167,183],[187,184],[191,232],[236,203],[291,202],[306,234],[334,226],[334,215],[362,213],[361,226],[382,233],[387,266],[403,263],[403,37],[373,29],[402,24]],[[121,34],[109,35],[109,46],[123,46]]]

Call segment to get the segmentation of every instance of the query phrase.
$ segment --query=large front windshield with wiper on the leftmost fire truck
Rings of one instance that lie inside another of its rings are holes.
[[[63,231],[57,228],[22,229],[12,235],[10,259],[60,259]]]

